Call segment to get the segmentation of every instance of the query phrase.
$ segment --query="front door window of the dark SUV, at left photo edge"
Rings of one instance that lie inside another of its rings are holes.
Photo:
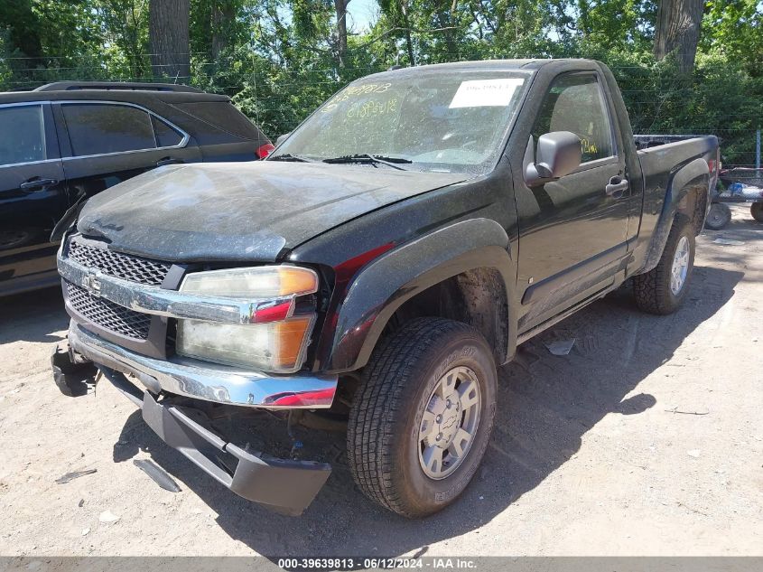
[[[44,161],[42,106],[0,108],[0,165]]]

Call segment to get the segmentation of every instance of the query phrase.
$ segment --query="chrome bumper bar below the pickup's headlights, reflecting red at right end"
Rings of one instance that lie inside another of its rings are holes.
[[[149,358],[107,342],[74,321],[69,345],[96,365],[135,375],[154,393],[256,408],[321,409],[331,407],[337,389],[337,376],[275,376],[180,356]]]

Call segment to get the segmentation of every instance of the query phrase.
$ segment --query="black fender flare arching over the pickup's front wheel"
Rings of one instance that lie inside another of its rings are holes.
[[[516,285],[516,262],[508,236],[498,222],[463,220],[390,250],[365,267],[350,284],[340,305],[331,342],[328,370],[351,371],[368,362],[395,310],[442,280],[480,267],[498,270],[509,314]],[[516,346],[516,319],[507,320],[506,355]]]

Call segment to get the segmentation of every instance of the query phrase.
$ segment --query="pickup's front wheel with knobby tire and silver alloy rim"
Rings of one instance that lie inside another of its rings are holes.
[[[358,488],[372,501],[408,518],[433,514],[455,501],[488,447],[497,377],[488,342],[467,324],[418,318],[392,334],[363,370],[349,413],[348,460]],[[455,396],[445,388],[449,380],[457,380],[454,387],[465,398],[442,399],[443,394]],[[434,395],[438,388],[444,393]],[[467,402],[472,404],[464,405]],[[473,423],[475,416],[471,439],[460,440],[459,427]],[[451,453],[456,441],[462,446],[461,457]],[[443,444],[450,445],[436,474],[433,459]]]

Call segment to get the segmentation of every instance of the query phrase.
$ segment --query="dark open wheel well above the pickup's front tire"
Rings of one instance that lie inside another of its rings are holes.
[[[470,324],[493,348],[496,363],[506,360],[507,292],[495,268],[483,267],[443,280],[406,300],[389,319],[384,335],[420,317],[441,317]]]

